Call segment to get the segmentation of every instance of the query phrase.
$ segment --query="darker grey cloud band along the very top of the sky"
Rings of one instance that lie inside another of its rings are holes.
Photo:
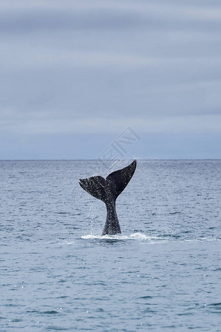
[[[20,4],[21,2],[21,4]],[[220,6],[170,1],[3,1],[4,33],[58,30],[213,30],[221,26]],[[13,3],[13,9],[12,9]]]

